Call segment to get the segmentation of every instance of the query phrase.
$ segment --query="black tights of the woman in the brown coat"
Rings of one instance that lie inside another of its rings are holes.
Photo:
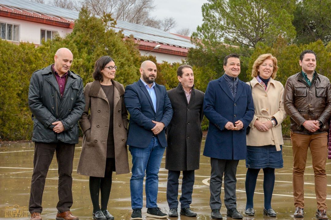
[[[107,158],[106,160],[106,169],[105,169],[105,177],[94,177],[90,176],[90,194],[91,200],[93,204],[93,212],[100,210],[99,206],[99,192],[101,192],[101,210],[106,210],[110,190],[112,188],[112,174],[115,168],[115,159]]]

